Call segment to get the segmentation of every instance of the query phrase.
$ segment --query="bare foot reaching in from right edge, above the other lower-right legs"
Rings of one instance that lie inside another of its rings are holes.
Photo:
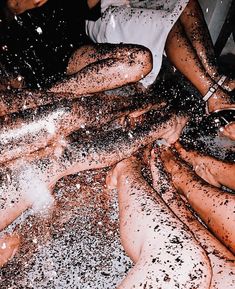
[[[186,151],[179,142],[175,148],[180,157],[189,163],[194,171],[205,181],[213,186],[226,186],[235,190],[235,164],[223,162],[210,156],[205,156],[197,151]]]

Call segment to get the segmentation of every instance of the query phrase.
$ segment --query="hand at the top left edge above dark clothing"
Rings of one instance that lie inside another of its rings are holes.
[[[8,9],[18,15],[27,10],[38,8],[45,4],[48,0],[7,0]]]

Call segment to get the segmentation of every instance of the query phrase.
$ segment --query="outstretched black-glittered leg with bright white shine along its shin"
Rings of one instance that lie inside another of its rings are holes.
[[[0,163],[61,141],[80,128],[98,128],[133,111],[142,114],[156,101],[148,96],[95,94],[23,110],[14,117],[0,117]]]

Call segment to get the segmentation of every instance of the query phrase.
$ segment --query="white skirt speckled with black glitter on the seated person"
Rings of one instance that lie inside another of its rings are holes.
[[[88,21],[86,31],[94,42],[148,47],[153,54],[153,70],[141,81],[148,86],[161,68],[167,35],[187,3],[188,0],[102,0],[102,8],[111,6],[96,22]]]

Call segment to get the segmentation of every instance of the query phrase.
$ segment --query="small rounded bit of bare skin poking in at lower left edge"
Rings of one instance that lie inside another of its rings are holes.
[[[5,235],[0,239],[0,267],[11,260],[20,245],[20,237],[16,234]]]

